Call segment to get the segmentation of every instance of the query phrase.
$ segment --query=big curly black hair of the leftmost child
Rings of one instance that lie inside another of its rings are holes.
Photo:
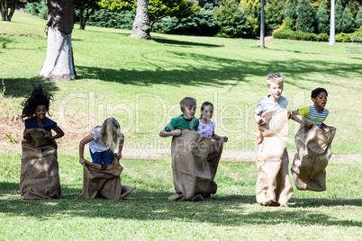
[[[53,99],[53,96],[51,94],[44,93],[41,85],[39,85],[38,87],[35,87],[35,85],[32,86],[34,87],[32,94],[29,95],[27,99],[24,100],[22,103],[23,106],[22,120],[24,118],[32,118],[35,115],[36,107],[42,104],[45,105],[45,109],[50,115],[49,105],[50,105],[50,100]]]

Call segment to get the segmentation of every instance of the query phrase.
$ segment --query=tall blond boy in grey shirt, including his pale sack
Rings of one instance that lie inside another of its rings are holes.
[[[282,96],[285,76],[267,76],[269,95],[258,102],[254,119],[257,130],[257,201],[265,206],[287,207],[293,194],[288,174],[288,101]]]

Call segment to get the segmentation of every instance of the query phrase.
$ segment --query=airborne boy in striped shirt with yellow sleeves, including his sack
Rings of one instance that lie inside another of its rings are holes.
[[[298,108],[292,119],[301,124],[295,134],[297,153],[291,171],[298,190],[322,192],[326,190],[326,167],[331,156],[331,142],[336,129],[323,123],[329,111],[325,109],[327,90],[316,88],[311,97],[314,105]],[[296,115],[302,115],[303,121]]]

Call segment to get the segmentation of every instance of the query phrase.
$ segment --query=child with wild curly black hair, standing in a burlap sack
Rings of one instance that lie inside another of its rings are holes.
[[[64,136],[49,114],[50,94],[44,93],[41,85],[22,103],[23,156],[20,176],[22,199],[58,199],[61,196],[57,143],[54,139]],[[57,134],[52,136],[51,129]]]

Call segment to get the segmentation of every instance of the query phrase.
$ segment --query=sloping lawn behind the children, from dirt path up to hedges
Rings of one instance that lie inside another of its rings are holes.
[[[15,13],[14,22],[0,22],[0,77],[5,97],[14,103],[13,114],[20,112],[18,104],[32,83],[54,94],[52,118],[71,136],[60,140],[70,149],[108,116],[122,123],[132,147],[169,147],[170,139],[158,138],[158,132],[181,113],[179,101],[194,96],[199,106],[214,103],[217,133],[230,139],[226,149],[252,151],[252,113],[268,94],[265,76],[283,72],[289,109],[312,104],[311,90],[325,87],[330,94],[326,123],[338,129],[333,153],[362,152],[356,109],[361,58],[347,58],[343,44],[273,40],[267,42],[269,49],[260,49],[257,40],[152,33],[152,40],[145,41],[132,38],[130,31],[89,26],[80,31],[76,26],[72,43],[78,79],[49,82],[36,74],[46,57],[44,26],[25,13]],[[298,125],[290,125],[288,144],[294,150]]]

